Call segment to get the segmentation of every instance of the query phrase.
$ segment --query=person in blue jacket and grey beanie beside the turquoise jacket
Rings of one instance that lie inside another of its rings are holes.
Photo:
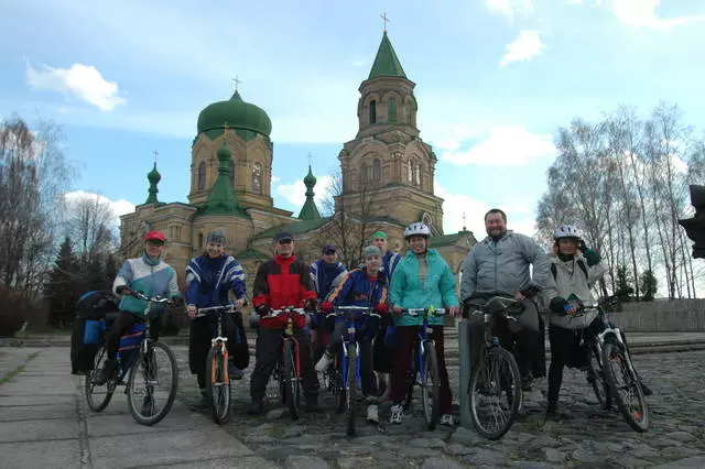
[[[365,266],[346,273],[339,285],[330,292],[326,302],[321,304],[322,312],[330,313],[336,306],[361,306],[370,308],[379,315],[389,314],[389,306],[387,306],[387,275],[380,270],[382,253],[379,248],[368,246],[362,254],[365,257]],[[340,350],[346,324],[343,318],[336,317],[335,319],[335,321],[327,321],[326,324],[329,330],[333,329],[333,336],[325,353],[316,363],[316,371],[318,372],[325,371],[333,363],[335,355]],[[377,317],[367,317],[358,336],[362,395],[367,401],[367,419],[370,423],[379,422],[377,390],[372,373],[372,340],[379,330],[379,323],[380,320]]]

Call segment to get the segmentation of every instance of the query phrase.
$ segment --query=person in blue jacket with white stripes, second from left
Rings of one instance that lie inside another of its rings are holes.
[[[188,366],[191,372],[197,377],[204,405],[210,403],[206,391],[205,367],[214,337],[215,320],[212,316],[196,315],[198,308],[231,303],[228,298],[230,290],[235,294],[236,305],[242,306],[246,291],[245,271],[235,258],[225,253],[225,234],[221,231],[213,231],[206,238],[206,252],[192,259],[186,268],[186,313],[191,319]],[[242,362],[242,357],[238,357],[237,353],[247,351],[247,343],[245,347],[237,347],[245,337],[241,316],[224,315],[223,330],[228,338],[228,374],[231,379],[242,379],[242,370],[235,364],[236,361]],[[246,361],[249,361],[249,357]]]

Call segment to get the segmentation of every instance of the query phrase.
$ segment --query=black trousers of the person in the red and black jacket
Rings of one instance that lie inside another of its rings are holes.
[[[299,341],[299,360],[304,395],[306,399],[318,396],[318,377],[311,360],[311,337],[304,329],[294,329]],[[267,383],[276,360],[282,356],[282,330],[268,329],[260,326],[254,351],[254,370],[250,378],[250,396],[252,401],[261,401],[267,391]]]

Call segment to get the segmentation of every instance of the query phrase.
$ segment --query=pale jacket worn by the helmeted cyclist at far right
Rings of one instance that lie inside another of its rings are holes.
[[[597,313],[590,313],[582,317],[571,318],[570,316],[561,316],[553,313],[550,308],[551,299],[560,296],[567,299],[571,294],[577,296],[583,304],[592,306],[595,297],[590,291],[595,283],[607,272],[607,265],[599,262],[592,268],[587,266],[587,261],[581,254],[576,254],[571,261],[564,262],[557,255],[549,255],[551,260],[551,275],[555,271],[555,282],[550,283],[546,288],[541,292],[543,306],[549,312],[551,324],[564,329],[583,329],[587,327],[595,318]],[[579,263],[587,270],[587,276]]]

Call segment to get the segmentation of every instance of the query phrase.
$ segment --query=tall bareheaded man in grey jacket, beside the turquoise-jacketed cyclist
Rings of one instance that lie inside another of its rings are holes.
[[[534,297],[551,282],[551,262],[531,238],[507,232],[507,215],[494,208],[485,214],[487,238],[470,250],[463,264],[460,298],[464,304],[478,304],[492,296],[513,297],[524,305],[519,316],[521,330],[505,330],[501,341],[510,350],[517,342],[517,364],[522,389],[531,390],[534,375],[545,375],[545,352],[541,347],[543,324]],[[533,275],[530,266],[533,266]],[[511,326],[511,325],[510,325]],[[478,359],[482,328],[470,326],[471,361]]]

